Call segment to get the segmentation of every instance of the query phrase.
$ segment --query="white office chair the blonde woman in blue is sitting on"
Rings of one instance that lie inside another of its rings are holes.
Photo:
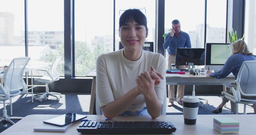
[[[226,87],[229,87],[233,95],[222,91],[222,95],[231,101],[231,111],[234,114],[238,113],[238,103],[244,104],[244,114],[246,114],[246,105],[256,103],[256,60],[244,61],[236,78],[237,88],[229,83],[223,83]],[[243,95],[241,97],[241,95]],[[254,98],[250,98],[254,97]],[[256,113],[256,112],[254,112]]]

